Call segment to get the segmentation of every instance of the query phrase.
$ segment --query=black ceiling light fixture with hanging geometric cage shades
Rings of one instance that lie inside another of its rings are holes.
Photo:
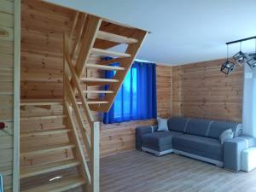
[[[247,54],[243,53],[241,51],[241,42],[248,41],[255,39],[255,53],[254,54]],[[236,41],[227,42],[227,60],[221,65],[220,71],[225,74],[230,74],[234,68],[236,67],[236,64],[234,62],[229,61],[229,44],[237,44],[240,43],[240,50],[236,53],[236,55],[233,55],[233,59],[236,61],[237,64],[240,66],[247,63],[249,67],[252,69],[256,69],[256,36],[251,38],[242,38]]]

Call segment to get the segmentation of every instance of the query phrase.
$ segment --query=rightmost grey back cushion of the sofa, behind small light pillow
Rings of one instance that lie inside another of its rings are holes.
[[[207,137],[219,138],[224,131],[229,129],[231,129],[236,136],[236,129],[238,128],[239,125],[240,124],[233,122],[212,121],[209,127]]]

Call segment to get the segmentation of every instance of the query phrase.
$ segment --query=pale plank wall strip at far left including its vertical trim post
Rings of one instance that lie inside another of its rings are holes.
[[[19,1],[0,1],[0,122],[7,126],[0,130],[0,173],[8,192],[18,191],[19,183],[19,9]]]

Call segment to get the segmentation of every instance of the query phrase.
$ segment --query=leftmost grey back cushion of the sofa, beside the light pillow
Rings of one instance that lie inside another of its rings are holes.
[[[173,117],[168,119],[168,128],[170,131],[183,132],[188,124],[189,119],[183,117]]]

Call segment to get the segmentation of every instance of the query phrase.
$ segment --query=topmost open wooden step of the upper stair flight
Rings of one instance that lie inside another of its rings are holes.
[[[116,34],[113,34],[110,32],[102,32],[102,31],[97,32],[96,38],[119,43],[119,44],[135,44],[135,43],[137,43],[137,39],[135,39],[135,38],[127,38],[125,36],[116,35]]]

